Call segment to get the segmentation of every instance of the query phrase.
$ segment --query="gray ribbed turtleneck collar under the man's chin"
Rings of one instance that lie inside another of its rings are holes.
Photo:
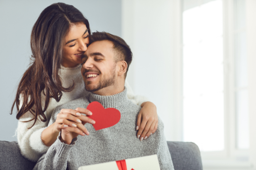
[[[126,107],[128,104],[128,98],[127,98],[127,88],[124,86],[124,91],[117,93],[112,96],[101,96],[98,94],[95,94],[93,92],[88,92],[88,99],[90,100],[90,103],[93,101],[98,101],[102,104],[104,108],[109,107]],[[127,107],[126,107],[127,108]]]

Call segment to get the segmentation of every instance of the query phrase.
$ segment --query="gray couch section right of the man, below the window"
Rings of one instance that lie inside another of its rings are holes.
[[[192,142],[167,141],[175,170],[203,170],[199,148]]]

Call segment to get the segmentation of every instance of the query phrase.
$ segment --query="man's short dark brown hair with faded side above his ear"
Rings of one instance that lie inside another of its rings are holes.
[[[132,63],[132,51],[129,45],[126,44],[126,42],[113,34],[106,33],[106,32],[94,32],[90,36],[90,44],[92,44],[95,41],[103,41],[103,40],[108,40],[113,42],[113,50],[114,50],[114,57],[115,57],[115,62],[117,63],[118,61],[126,61],[127,63],[127,69],[125,73],[125,77],[127,75],[128,68],[130,64]],[[89,44],[89,45],[90,45]]]

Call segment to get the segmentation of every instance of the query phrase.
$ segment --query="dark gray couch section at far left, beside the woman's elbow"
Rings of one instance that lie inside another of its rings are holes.
[[[0,141],[0,169],[32,170],[36,162],[31,162],[20,153],[17,142]]]

